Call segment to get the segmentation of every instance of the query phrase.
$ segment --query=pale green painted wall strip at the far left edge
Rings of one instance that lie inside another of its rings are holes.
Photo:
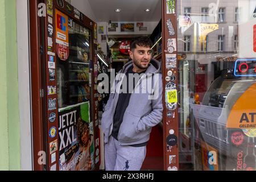
[[[16,0],[0,0],[0,24],[0,170],[19,170]]]

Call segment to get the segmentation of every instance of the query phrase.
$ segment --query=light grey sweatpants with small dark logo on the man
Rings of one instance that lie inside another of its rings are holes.
[[[120,146],[112,136],[105,144],[106,171],[139,171],[146,156],[146,146]]]

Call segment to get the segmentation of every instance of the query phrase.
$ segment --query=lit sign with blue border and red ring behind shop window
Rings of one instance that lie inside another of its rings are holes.
[[[256,59],[238,59],[234,76],[256,76]]]

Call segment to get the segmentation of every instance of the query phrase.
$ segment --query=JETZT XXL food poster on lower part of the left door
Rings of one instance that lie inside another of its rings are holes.
[[[60,171],[94,168],[93,133],[89,102],[59,110]]]

